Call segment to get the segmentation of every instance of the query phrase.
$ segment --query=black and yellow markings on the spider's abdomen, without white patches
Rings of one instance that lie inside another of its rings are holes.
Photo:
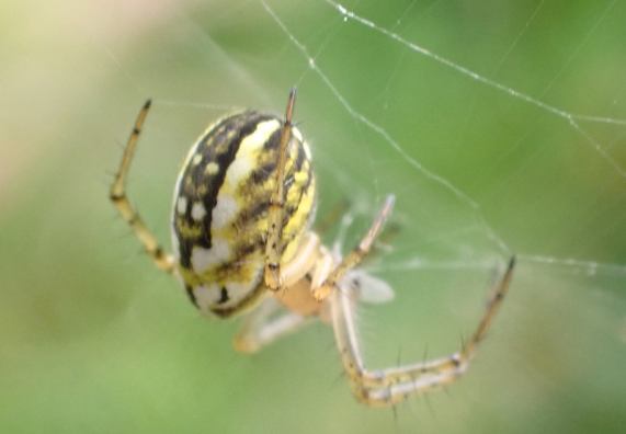
[[[275,121],[275,129],[263,128],[268,134],[268,137],[263,137],[263,132],[258,130],[258,127],[268,121]],[[173,230],[179,240],[180,252],[179,271],[194,304],[194,287],[203,284],[218,285],[217,300],[215,306],[212,306],[212,310],[218,315],[228,316],[229,312],[253,302],[261,294],[262,285],[259,284],[235,306],[227,305],[231,301],[228,282],[262,282],[259,272],[264,260],[268,214],[277,170],[281,125],[278,117],[258,112],[249,111],[228,116],[200,138],[194,153],[187,158],[181,173],[173,209]],[[253,153],[244,152],[248,145],[242,148],[242,142],[252,137],[263,140],[262,146],[255,148]],[[300,137],[299,134],[296,137]],[[282,232],[285,254],[295,251],[296,245],[292,244],[297,244],[295,241],[308,229],[310,214],[315,208],[311,162],[303,142],[296,137],[292,138],[295,146],[289,148],[285,165],[285,213]],[[240,150],[241,156],[238,156]],[[252,169],[239,184],[232,186],[227,183],[227,172],[238,158],[250,159]],[[225,185],[228,185],[228,193],[220,195]],[[236,214],[227,222],[227,227],[212,233],[213,209],[221,197],[237,202]],[[181,209],[179,201],[182,201]],[[196,209],[194,215],[194,205],[197,207],[198,204],[202,205],[203,213]],[[197,218],[200,214],[202,218]],[[198,274],[198,271],[192,267],[193,249],[210,249],[217,239],[215,237],[228,240],[229,256],[206,273]]]

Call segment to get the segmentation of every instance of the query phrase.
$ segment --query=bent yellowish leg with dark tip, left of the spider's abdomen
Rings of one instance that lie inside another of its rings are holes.
[[[172,273],[174,269],[174,259],[171,254],[164,253],[163,249],[157,241],[157,238],[144,224],[144,220],[135,210],[130,201],[126,196],[126,175],[128,174],[128,169],[130,168],[130,161],[133,160],[133,156],[135,155],[135,149],[137,148],[137,141],[139,140],[139,135],[141,134],[141,127],[144,126],[144,122],[146,121],[146,116],[148,115],[148,111],[150,110],[150,100],[146,101],[141,111],[137,115],[137,119],[135,121],[135,126],[133,127],[133,132],[130,133],[130,137],[126,142],[126,147],[124,148],[124,155],[122,156],[122,162],[119,163],[119,168],[117,173],[115,174],[115,179],[113,180],[113,184],[111,184],[111,190],[109,193],[109,197],[113,203],[113,206],[119,212],[124,220],[130,226],[135,236],[139,239],[148,255],[152,259],[155,264],[168,272]]]

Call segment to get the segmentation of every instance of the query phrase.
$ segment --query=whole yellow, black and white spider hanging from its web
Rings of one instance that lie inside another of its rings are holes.
[[[463,375],[490,328],[514,267],[494,285],[470,340],[456,353],[422,363],[369,369],[357,341],[360,300],[387,299],[388,285],[357,269],[394,206],[386,197],[369,230],[344,258],[311,230],[316,179],[311,155],[294,126],[296,91],[284,118],[257,111],[225,116],[190,150],[174,189],[173,253],[166,253],[126,196],[126,178],[150,108],[140,110],[110,198],[155,264],[178,275],[207,315],[248,313],[235,349],[253,353],[308,319],[331,324],[355,397],[385,407],[451,384]],[[253,309],[254,308],[254,309]]]

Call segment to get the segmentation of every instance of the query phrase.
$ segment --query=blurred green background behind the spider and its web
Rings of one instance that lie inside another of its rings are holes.
[[[0,432],[624,432],[624,123],[581,121],[581,133],[323,1],[269,4],[403,155],[345,110],[258,1],[0,5]],[[625,2],[345,5],[545,104],[626,119]],[[129,192],[167,242],[195,137],[234,106],[281,112],[294,83],[319,214],[348,198],[353,242],[398,196],[400,235],[367,264],[397,299],[360,313],[373,366],[455,351],[499,265],[520,254],[489,340],[447,392],[395,412],[357,404],[320,324],[236,354],[237,321],[201,318],[107,203],[147,98]]]

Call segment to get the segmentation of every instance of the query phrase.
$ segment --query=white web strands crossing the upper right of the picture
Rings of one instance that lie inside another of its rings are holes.
[[[449,60],[448,58],[446,58],[444,56],[441,56],[436,53],[433,53],[433,52],[429,50],[428,48],[424,48],[414,42],[408,41],[407,38],[402,37],[399,33],[396,33],[394,30],[389,30],[387,27],[378,25],[374,21],[358,15],[353,10],[348,9],[342,3],[338,3],[338,2],[334,2],[331,0],[323,0],[322,2],[326,3],[327,5],[333,8],[338,13],[338,20],[341,20],[345,24],[355,23],[355,25],[366,27],[367,30],[371,30],[372,32],[379,34],[382,37],[387,38],[391,43],[400,44],[403,47],[403,49],[408,50],[412,55],[424,56],[424,57],[433,60],[434,62],[440,64],[443,67],[448,68],[448,69],[457,72],[460,76],[464,76],[464,77],[466,77],[473,81],[476,81],[480,85],[492,88],[499,92],[502,92],[507,95],[510,95],[512,99],[515,99],[515,100],[522,101],[524,103],[534,105],[534,106],[540,108],[542,111],[544,111],[547,115],[556,116],[556,117],[560,118],[561,121],[566,122],[572,128],[572,130],[574,130],[578,135],[580,135],[580,137],[582,138],[582,141],[584,144],[587,144],[588,146],[590,146],[595,151],[595,153],[597,155],[597,157],[600,159],[605,161],[607,169],[611,172],[613,172],[616,176],[622,179],[621,184],[622,184],[622,186],[624,186],[624,180],[626,180],[626,171],[625,171],[623,164],[606,150],[606,148],[610,147],[610,145],[607,146],[606,144],[601,142],[600,139],[597,139],[593,135],[591,135],[585,128],[583,128],[583,123],[588,123],[588,124],[611,124],[611,125],[617,125],[617,126],[623,127],[623,126],[626,126],[626,119],[617,118],[617,117],[610,117],[610,116],[578,114],[578,113],[573,113],[573,112],[564,110],[561,107],[551,105],[547,102],[542,101],[540,99],[537,99],[537,98],[532,96],[527,93],[519,91],[513,87],[508,87],[508,85],[505,85],[499,81],[496,81],[493,79],[488,78],[487,76],[482,76],[482,75],[476,72],[475,70],[471,70],[471,69],[469,69],[469,68],[467,68],[460,64],[457,64],[453,60]],[[305,45],[300,39],[298,39],[296,34],[294,34],[291,31],[291,28],[287,26],[287,24],[281,19],[281,16],[277,14],[277,12],[266,1],[263,0],[263,1],[261,1],[261,3],[263,4],[263,8],[265,9],[265,11],[270,14],[272,20],[276,23],[276,25],[285,33],[285,36],[288,38],[288,41],[297,48],[297,50],[301,55],[303,61],[306,61],[306,64],[308,64],[308,69],[310,71],[312,71],[315,73],[315,76],[317,76],[317,78],[319,78],[319,80],[321,80],[321,82],[330,90],[330,92],[334,95],[337,101],[343,106],[343,108],[348,112],[348,114],[355,122],[363,124],[366,128],[371,129],[375,135],[377,135],[384,144],[388,145],[390,149],[392,149],[402,159],[405,159],[407,161],[407,163],[412,169],[414,169],[414,171],[420,176],[423,176],[423,178],[428,179],[429,181],[431,181],[435,184],[439,184],[443,190],[447,191],[447,193],[453,194],[460,203],[463,203],[464,206],[467,206],[468,208],[470,208],[475,213],[475,217],[479,221],[479,229],[483,231],[483,235],[487,238],[489,238],[491,241],[493,241],[494,244],[499,249],[502,250],[502,252],[511,252],[511,248],[507,244],[507,242],[486,221],[485,216],[481,213],[480,205],[473,197],[470,197],[468,194],[466,194],[463,191],[462,187],[453,184],[453,182],[448,181],[446,178],[444,178],[444,176],[440,175],[439,173],[436,173],[436,172],[428,169],[426,167],[424,167],[424,164],[422,164],[418,159],[416,159],[413,156],[411,156],[409,152],[407,152],[405,150],[405,148],[402,147],[402,145],[399,144],[391,136],[391,134],[388,130],[386,130],[380,124],[372,121],[369,117],[364,115],[362,112],[357,111],[350,103],[350,101],[348,101],[348,99],[341,93],[341,91],[333,83],[333,81],[331,81],[331,79],[325,72],[322,67],[320,67],[318,65],[317,58],[320,57],[323,52],[317,50],[316,54],[312,54],[312,50],[307,45]],[[405,11],[405,14],[407,14],[410,11],[410,9],[416,5],[416,3],[417,2],[411,2],[410,5]],[[610,2],[605,7],[604,11],[595,20],[595,22],[592,24],[590,31],[585,35],[585,37],[580,43],[579,48],[584,44],[584,42],[585,42],[584,39],[587,39],[593,35],[593,33],[597,30],[597,27],[606,19],[606,16],[610,14],[610,12],[614,9],[615,3],[616,2],[613,1],[613,2]],[[528,21],[526,22],[524,28],[517,35],[517,37],[511,43],[507,54],[504,54],[504,56],[500,59],[500,61],[499,61],[500,65],[502,65],[505,61],[507,57],[509,57],[509,55],[515,49],[515,45],[524,36],[524,33],[527,31],[528,25],[532,23],[532,21],[536,16],[536,14],[539,13],[542,5],[543,5],[543,1],[537,3],[536,9],[533,11],[533,14],[528,19]],[[398,25],[400,23],[400,21],[401,21],[401,19],[398,20],[396,25]],[[574,57],[577,55],[577,52],[578,52],[578,48],[572,54],[572,57]],[[555,77],[553,82],[558,79],[559,75],[560,75],[560,72],[557,73],[557,76]],[[301,83],[304,81],[304,79],[305,79],[304,76],[300,77],[300,79],[297,80],[297,83],[298,84]],[[553,83],[548,84],[548,87],[546,88],[546,91],[544,93],[547,93],[547,91],[551,88],[551,84]],[[596,273],[599,269],[602,272],[606,272],[606,273],[615,273],[617,275],[626,274],[626,264],[619,264],[619,263],[603,263],[603,262],[596,262],[593,260],[580,260],[580,259],[573,259],[573,258],[558,258],[558,256],[550,256],[550,255],[543,255],[543,254],[530,254],[530,253],[524,253],[524,252],[519,253],[519,258],[524,260],[524,261],[528,261],[528,262],[536,262],[536,263],[542,263],[542,264],[553,264],[553,265],[559,265],[559,266],[566,266],[566,267],[574,267],[574,269],[579,269],[580,271],[584,271],[587,273],[592,273],[592,274]],[[408,269],[417,267],[417,266],[424,266],[424,265],[426,265],[426,264],[420,260],[409,260],[408,262],[405,263],[405,266]],[[430,265],[432,266],[433,264],[430,264]]]

